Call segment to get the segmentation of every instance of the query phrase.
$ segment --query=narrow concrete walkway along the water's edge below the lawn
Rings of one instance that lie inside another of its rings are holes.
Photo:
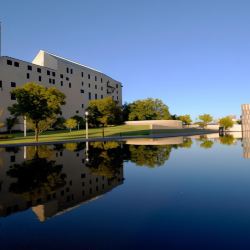
[[[62,141],[50,141],[50,142],[28,142],[28,143],[13,143],[13,144],[0,144],[1,147],[22,147],[22,146],[39,146],[39,145],[55,145],[55,144],[65,144],[65,143],[80,143],[80,142],[95,142],[95,141],[126,141],[127,139],[137,139],[137,138],[168,138],[168,137],[179,137],[179,136],[193,136],[193,135],[206,135],[218,133],[217,130],[198,130],[190,132],[178,132],[178,133],[164,133],[164,134],[151,134],[142,136],[107,136],[107,137],[96,137],[89,139],[71,139]]]

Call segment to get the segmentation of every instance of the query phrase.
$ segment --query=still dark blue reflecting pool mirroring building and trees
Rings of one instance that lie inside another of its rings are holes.
[[[1,249],[250,249],[250,138],[0,148]]]

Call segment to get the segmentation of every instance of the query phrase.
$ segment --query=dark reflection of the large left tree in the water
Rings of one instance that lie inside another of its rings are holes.
[[[17,178],[9,191],[22,195],[26,200],[38,199],[65,185],[62,165],[48,160],[51,150],[47,146],[28,147],[28,160],[10,166],[7,175]]]

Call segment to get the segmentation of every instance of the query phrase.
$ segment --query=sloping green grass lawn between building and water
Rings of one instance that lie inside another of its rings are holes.
[[[168,129],[151,131],[149,126],[113,126],[104,129],[104,136],[147,136],[150,134],[177,134],[180,132],[194,133],[197,129]],[[199,130],[200,131],[200,130]],[[17,143],[30,143],[35,142],[34,133],[28,133],[23,137],[23,133],[15,133],[11,135],[13,138],[0,139],[1,144],[17,144]],[[85,130],[73,130],[72,132],[60,131],[47,131],[39,136],[39,142],[59,142],[65,140],[84,139],[86,137]],[[89,138],[102,137],[102,128],[89,129]]]

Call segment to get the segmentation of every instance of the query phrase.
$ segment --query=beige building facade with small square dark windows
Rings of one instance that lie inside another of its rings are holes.
[[[41,50],[32,63],[7,56],[0,57],[1,121],[5,122],[10,116],[8,107],[16,101],[11,91],[27,82],[56,87],[63,92],[66,105],[62,107],[61,116],[66,119],[74,115],[84,116],[88,102],[93,99],[110,96],[122,105],[120,82],[95,69]],[[19,124],[15,129],[22,130],[22,127]]]

